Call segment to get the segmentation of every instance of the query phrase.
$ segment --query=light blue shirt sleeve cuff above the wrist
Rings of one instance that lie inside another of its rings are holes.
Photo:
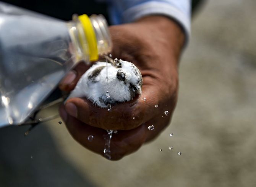
[[[177,21],[186,40],[190,36],[191,0],[108,0],[112,24],[122,24],[153,14],[161,14]]]

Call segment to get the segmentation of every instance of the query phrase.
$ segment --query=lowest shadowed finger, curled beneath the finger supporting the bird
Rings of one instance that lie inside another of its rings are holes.
[[[63,113],[63,110],[65,109],[62,105],[60,107],[60,113]],[[76,141],[87,149],[104,156],[103,151],[106,141],[104,136],[107,135],[107,131],[84,124],[69,115],[64,118],[63,120],[65,121],[68,131]],[[88,139],[88,136],[93,136],[93,139]],[[131,154],[139,149],[145,140],[146,129],[144,125],[133,130],[118,131],[117,134],[113,133],[110,143],[111,160],[119,160],[125,155]]]

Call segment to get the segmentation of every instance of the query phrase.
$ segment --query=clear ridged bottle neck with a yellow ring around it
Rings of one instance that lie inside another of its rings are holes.
[[[68,22],[71,38],[71,52],[75,62],[96,61],[100,55],[108,54],[112,49],[112,41],[107,22],[102,15],[73,15]]]

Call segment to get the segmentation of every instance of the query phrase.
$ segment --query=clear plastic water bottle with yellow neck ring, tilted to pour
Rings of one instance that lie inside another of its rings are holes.
[[[0,2],[0,127],[23,123],[77,62],[111,48],[103,16],[64,22]]]

